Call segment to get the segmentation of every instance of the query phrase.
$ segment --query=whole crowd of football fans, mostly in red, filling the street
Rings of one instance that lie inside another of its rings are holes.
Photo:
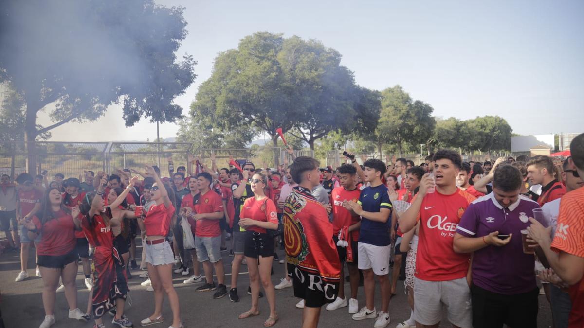
[[[404,158],[391,165],[364,158],[360,165],[345,153],[339,168],[293,156],[291,165],[275,169],[232,158],[218,168],[211,156],[211,167],[194,159],[176,172],[169,160],[169,177],[157,166],[110,175],[88,170],[68,179],[57,173],[50,182],[46,171],[22,173],[14,182],[4,175],[0,223],[8,249],[20,252],[16,282],[29,278],[34,250],[44,285],[41,328],[55,322],[59,292],[71,319],[94,319],[100,328],[109,313],[113,324],[133,327],[124,303],[127,280],[138,269],[141,284],[154,292],[152,315],[141,326],[165,321],[166,296],[170,328],[183,327],[173,274],[213,299],[239,302],[242,264],[252,298],[238,317],[258,316],[265,297],[265,327],[279,320],[274,289],[290,287],[303,327],[318,326],[322,306],[387,327],[401,278],[411,314],[397,328],[437,327],[444,313],[454,327],[536,327],[540,290],[555,327],[581,328],[584,134],[573,139],[571,153],[564,160],[475,163],[441,149],[419,166]],[[232,256],[229,288],[226,255]],[[77,301],[78,263],[91,291],[85,311]],[[277,263],[286,274],[274,286]]]

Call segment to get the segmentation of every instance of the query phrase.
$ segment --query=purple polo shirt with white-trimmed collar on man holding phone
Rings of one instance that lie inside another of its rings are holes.
[[[490,193],[472,202],[456,229],[465,237],[482,238],[493,231],[500,235],[513,233],[511,241],[502,247],[486,246],[474,252],[472,283],[488,291],[503,295],[522,294],[536,288],[535,258],[524,254],[521,231],[531,224],[536,201],[520,196],[503,208]],[[543,222],[542,222],[543,223]]]

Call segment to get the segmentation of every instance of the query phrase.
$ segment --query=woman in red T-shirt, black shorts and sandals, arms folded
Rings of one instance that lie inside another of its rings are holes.
[[[266,196],[265,175],[256,173],[249,180],[254,196],[245,200],[239,217],[239,226],[245,229],[244,255],[248,264],[249,284],[252,289],[252,307],[239,315],[239,319],[259,315],[259,282],[262,281],[270,305],[270,316],[264,327],[272,327],[278,320],[276,313],[276,291],[270,273],[274,259],[274,240],[266,229],[278,228],[276,204]],[[259,262],[259,263],[258,263]],[[260,264],[260,265],[259,265]]]

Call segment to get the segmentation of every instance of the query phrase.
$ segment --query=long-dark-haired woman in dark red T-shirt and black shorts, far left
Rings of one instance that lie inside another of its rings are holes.
[[[25,222],[30,240],[41,234],[37,248],[39,268],[43,277],[43,306],[45,317],[41,328],[55,323],[54,308],[59,278],[65,285],[65,298],[69,304],[69,318],[88,321],[89,317],[77,307],[77,253],[75,231],[81,230],[77,218],[79,207],[71,211],[61,205],[61,192],[57,188],[47,189],[41,201],[39,213]]]

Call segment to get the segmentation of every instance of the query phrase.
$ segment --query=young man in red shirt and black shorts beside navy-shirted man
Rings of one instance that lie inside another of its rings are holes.
[[[357,301],[357,289],[359,288],[359,269],[357,268],[358,252],[357,240],[359,240],[359,228],[361,226],[361,218],[343,205],[347,201],[356,202],[359,200],[361,190],[357,188],[357,169],[353,165],[343,164],[338,169],[340,176],[340,186],[332,190],[332,217],[333,217],[333,242],[336,245],[336,251],[339,253],[340,261],[340,276],[345,277],[343,268],[345,261],[347,268],[349,268],[351,298],[349,300],[349,313],[355,314],[359,312],[359,302]],[[347,246],[339,246],[339,232],[346,232],[343,240],[346,240]],[[339,295],[335,302],[326,306],[327,310],[336,310],[347,306],[347,299],[345,298],[344,284],[339,285]]]

